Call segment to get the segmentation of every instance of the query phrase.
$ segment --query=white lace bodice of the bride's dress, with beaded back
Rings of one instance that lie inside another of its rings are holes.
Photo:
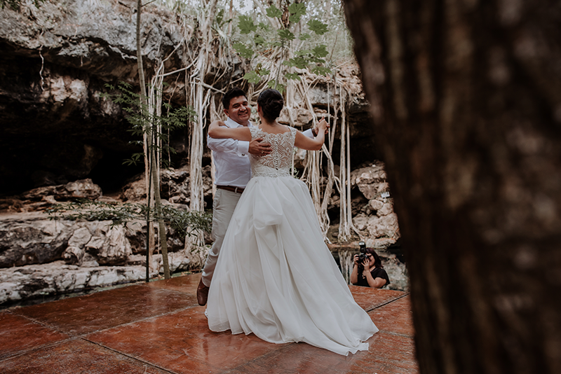
[[[292,165],[292,149],[296,138],[296,129],[282,134],[269,134],[259,127],[250,127],[251,139],[263,138],[271,144],[271,153],[268,155],[250,155],[252,176],[290,176]]]

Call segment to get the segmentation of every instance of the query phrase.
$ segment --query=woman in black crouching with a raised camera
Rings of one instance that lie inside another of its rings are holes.
[[[355,286],[374,287],[381,289],[390,284],[388,273],[381,265],[381,260],[376,251],[366,248],[364,242],[360,245],[360,254],[354,256],[353,272],[351,272],[351,283]]]

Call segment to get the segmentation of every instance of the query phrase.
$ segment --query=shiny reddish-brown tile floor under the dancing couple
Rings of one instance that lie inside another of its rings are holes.
[[[351,286],[380,331],[368,352],[340,356],[212,333],[196,303],[200,277],[0,312],[0,373],[418,373],[406,293]]]

